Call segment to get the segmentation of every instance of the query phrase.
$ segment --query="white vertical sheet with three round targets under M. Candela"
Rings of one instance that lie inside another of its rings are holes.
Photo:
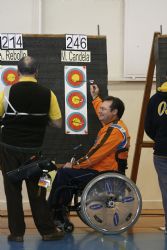
[[[87,134],[86,66],[65,66],[65,132]]]

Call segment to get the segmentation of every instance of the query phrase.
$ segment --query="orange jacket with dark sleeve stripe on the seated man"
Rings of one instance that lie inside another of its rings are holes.
[[[92,103],[98,115],[102,100],[97,97]],[[127,159],[129,141],[128,129],[122,120],[119,120],[117,124],[103,124],[93,147],[84,157],[75,162],[75,165],[72,167],[76,169],[89,168],[97,171],[117,171],[118,162],[116,154],[119,149],[125,149],[124,152],[119,153],[119,159]]]

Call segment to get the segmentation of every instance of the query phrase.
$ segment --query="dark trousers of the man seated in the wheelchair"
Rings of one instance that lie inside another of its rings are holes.
[[[72,201],[74,191],[76,191],[76,189],[67,188],[67,186],[81,187],[86,185],[97,174],[98,171],[91,169],[59,169],[48,199],[50,208],[61,210],[66,207]]]

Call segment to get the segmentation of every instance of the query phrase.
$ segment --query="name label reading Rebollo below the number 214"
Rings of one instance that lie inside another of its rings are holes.
[[[0,61],[20,61],[27,55],[27,50],[0,50]]]

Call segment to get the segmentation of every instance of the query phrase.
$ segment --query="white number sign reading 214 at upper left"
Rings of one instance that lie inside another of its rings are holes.
[[[1,49],[23,49],[22,34],[1,33]]]

